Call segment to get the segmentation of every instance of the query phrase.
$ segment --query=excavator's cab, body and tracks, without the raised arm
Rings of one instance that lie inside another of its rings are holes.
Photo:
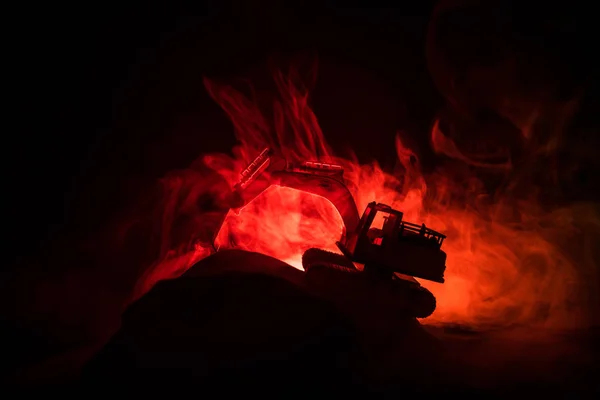
[[[388,205],[369,203],[356,231],[336,243],[343,255],[308,249],[302,256],[304,269],[307,274],[326,268],[389,281],[398,304],[416,318],[430,316],[435,311],[435,297],[415,277],[444,283],[446,253],[441,246],[446,237],[424,224],[402,221],[402,217],[402,212]],[[381,228],[373,227],[381,220]]]

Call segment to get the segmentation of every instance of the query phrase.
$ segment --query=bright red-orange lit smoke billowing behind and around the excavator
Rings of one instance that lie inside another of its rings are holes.
[[[400,137],[395,142],[400,174],[389,174],[377,163],[361,165],[335,157],[308,106],[307,91],[297,85],[297,76],[278,74],[275,80],[280,98],[274,103],[272,119],[233,88],[205,82],[231,118],[240,144],[233,156],[205,155],[203,165],[233,187],[247,163],[266,146],[290,161],[339,164],[359,213],[376,200],[402,211],[407,221],[425,223],[447,235],[446,283],[421,282],[438,303],[426,323],[557,327],[581,323],[582,278],[561,242],[576,231],[576,220],[592,216],[588,209],[542,212],[533,201],[492,202],[474,179],[456,183],[443,172],[424,176],[414,162],[416,154]],[[449,143],[440,135],[436,124],[433,144],[438,152],[448,151]],[[341,217],[329,201],[273,186],[238,214],[229,213],[216,245],[261,252],[301,268],[302,253],[309,247],[337,251],[335,241],[342,229]],[[143,290],[158,279],[180,274],[211,251],[196,247],[175,255],[163,252]],[[595,265],[583,268],[596,270]]]

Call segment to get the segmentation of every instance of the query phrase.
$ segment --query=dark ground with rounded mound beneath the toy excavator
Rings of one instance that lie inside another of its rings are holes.
[[[372,329],[365,329],[362,313],[310,294],[302,274],[284,263],[224,252],[131,306],[83,379],[261,392],[595,389],[591,332],[473,332],[422,327],[390,310],[371,314]]]

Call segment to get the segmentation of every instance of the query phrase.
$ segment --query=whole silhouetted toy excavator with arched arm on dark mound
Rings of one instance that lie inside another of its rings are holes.
[[[414,317],[428,317],[435,310],[436,300],[415,277],[444,282],[446,253],[441,246],[446,237],[425,224],[403,221],[402,212],[377,202],[369,203],[359,219],[343,173],[343,168],[334,164],[290,165],[283,158],[273,157],[267,148],[242,172],[240,183],[234,188],[231,208],[242,208],[272,185],[328,199],[344,222],[344,233],[336,243],[342,254],[308,249],[302,257],[307,276],[325,269],[389,283],[395,298],[405,306],[408,304]],[[343,275],[340,277],[343,279]]]

